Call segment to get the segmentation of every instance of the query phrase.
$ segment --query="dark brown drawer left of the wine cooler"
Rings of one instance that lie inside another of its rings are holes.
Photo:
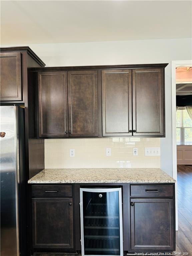
[[[31,191],[32,197],[72,197],[72,186],[70,185],[33,185]]]

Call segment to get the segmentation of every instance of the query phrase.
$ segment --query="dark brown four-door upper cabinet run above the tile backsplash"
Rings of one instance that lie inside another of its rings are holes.
[[[34,68],[39,137],[165,137],[166,66]]]

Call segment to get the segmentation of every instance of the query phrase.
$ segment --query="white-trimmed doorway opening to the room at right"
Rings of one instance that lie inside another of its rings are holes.
[[[177,181],[176,244],[192,246],[192,61],[172,61],[173,178]]]

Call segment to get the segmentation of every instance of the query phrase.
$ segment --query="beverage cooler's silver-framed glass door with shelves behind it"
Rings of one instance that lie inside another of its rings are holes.
[[[121,188],[80,188],[81,254],[123,256]]]

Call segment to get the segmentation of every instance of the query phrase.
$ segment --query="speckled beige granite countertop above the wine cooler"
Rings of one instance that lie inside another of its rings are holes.
[[[28,183],[174,183],[160,168],[44,169]]]

